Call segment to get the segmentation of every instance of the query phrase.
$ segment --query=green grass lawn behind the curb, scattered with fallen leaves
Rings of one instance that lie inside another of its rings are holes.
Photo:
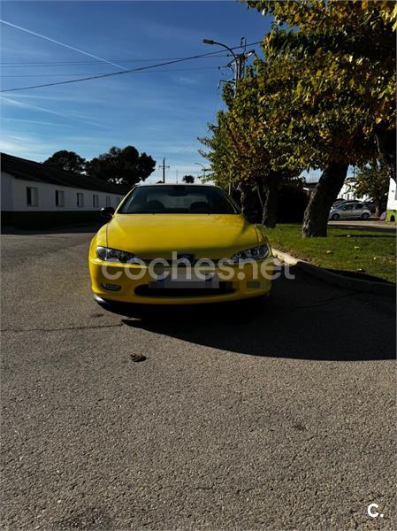
[[[271,246],[315,266],[359,271],[395,282],[395,234],[328,227],[327,238],[302,238],[302,225],[267,228]]]

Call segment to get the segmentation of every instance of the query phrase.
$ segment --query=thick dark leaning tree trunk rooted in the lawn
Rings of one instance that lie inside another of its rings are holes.
[[[324,169],[304,213],[303,238],[327,235],[328,216],[346,179],[347,167],[347,164],[330,162]]]

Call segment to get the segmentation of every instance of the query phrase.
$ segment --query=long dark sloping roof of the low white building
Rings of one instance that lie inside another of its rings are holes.
[[[25,181],[47,182],[57,186],[67,186],[77,189],[95,190],[125,196],[130,187],[121,184],[112,184],[96,177],[88,177],[80,173],[64,172],[43,165],[40,162],[27,160],[26,158],[13,157],[6,153],[1,154],[1,168],[5,173],[10,173],[16,179]]]

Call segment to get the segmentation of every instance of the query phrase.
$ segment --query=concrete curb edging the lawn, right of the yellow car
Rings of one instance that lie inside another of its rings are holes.
[[[364,293],[373,293],[381,296],[396,296],[396,286],[392,282],[388,281],[376,281],[375,277],[373,281],[364,280],[363,278],[355,278],[350,276],[347,272],[337,272],[324,267],[313,266],[309,262],[305,262],[300,258],[295,258],[292,255],[283,252],[278,249],[272,249],[273,255],[279,258],[281,262],[288,264],[289,266],[299,267],[303,272],[308,273],[317,279],[338,286],[339,288],[354,289],[355,291],[361,291]],[[351,273],[350,274],[354,274]]]

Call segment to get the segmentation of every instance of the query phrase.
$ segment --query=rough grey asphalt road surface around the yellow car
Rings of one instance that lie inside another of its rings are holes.
[[[75,231],[2,237],[4,529],[395,528],[393,300],[125,317]]]

